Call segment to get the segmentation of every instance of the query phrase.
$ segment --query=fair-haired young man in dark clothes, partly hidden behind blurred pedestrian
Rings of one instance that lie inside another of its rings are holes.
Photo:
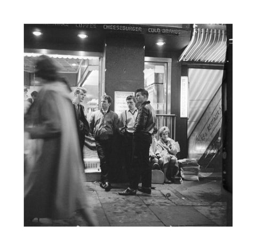
[[[72,103],[75,106],[76,111],[76,122],[78,127],[78,139],[81,148],[81,155],[83,157],[83,148],[84,148],[84,140],[85,135],[89,135],[90,127],[89,122],[84,114],[84,106],[81,104],[86,96],[86,89],[84,87],[77,87],[74,95],[75,98],[73,99]]]

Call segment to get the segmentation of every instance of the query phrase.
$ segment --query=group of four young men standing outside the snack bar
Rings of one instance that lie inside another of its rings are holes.
[[[118,115],[110,110],[112,99],[109,95],[101,97],[100,109],[92,112],[89,122],[84,115],[84,108],[80,104],[85,97],[85,88],[78,87],[75,91],[73,104],[76,107],[78,135],[83,151],[84,135],[94,136],[97,153],[100,159],[101,179],[100,187],[109,191],[111,148],[115,133],[121,134],[124,142],[125,163],[129,178],[129,187],[119,195],[136,195],[137,190],[151,193],[151,165],[149,162],[149,148],[151,135],[156,124],[155,111],[148,100],[148,91],[139,88],[135,96],[127,96],[128,110]],[[140,104],[137,109],[135,104]],[[142,187],[138,187],[141,177]]]

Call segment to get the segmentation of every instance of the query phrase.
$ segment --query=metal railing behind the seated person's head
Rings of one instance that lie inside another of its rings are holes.
[[[170,130],[170,138],[175,141],[176,136],[176,115],[164,115],[164,114],[156,114],[156,127],[159,131],[159,128],[166,126],[169,127]],[[159,134],[157,133],[157,140]]]

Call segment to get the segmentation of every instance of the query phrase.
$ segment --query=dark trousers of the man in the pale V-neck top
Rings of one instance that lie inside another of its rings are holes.
[[[124,158],[124,166],[126,168],[126,173],[128,176],[129,182],[131,181],[131,171],[132,171],[132,140],[133,134],[129,132],[125,132],[122,136],[123,141],[123,158]]]

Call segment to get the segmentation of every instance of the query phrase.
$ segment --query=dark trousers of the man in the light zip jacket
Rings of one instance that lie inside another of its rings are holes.
[[[112,139],[95,140],[96,149],[100,158],[101,178],[102,182],[109,181],[109,171],[111,164]]]

